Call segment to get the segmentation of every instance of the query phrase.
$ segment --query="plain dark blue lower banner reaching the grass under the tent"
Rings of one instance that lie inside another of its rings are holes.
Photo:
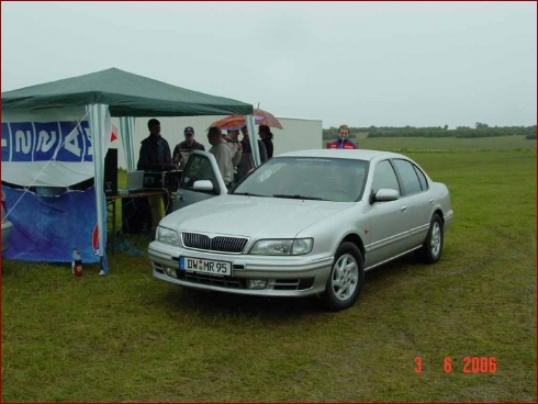
[[[82,262],[100,261],[93,187],[58,197],[41,197],[7,186],[2,190],[8,220],[13,223],[11,246],[3,252],[4,258],[70,262],[76,247]]]

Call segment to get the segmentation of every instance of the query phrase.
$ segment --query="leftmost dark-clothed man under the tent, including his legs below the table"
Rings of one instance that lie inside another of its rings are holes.
[[[149,130],[149,136],[141,142],[141,152],[136,168],[144,171],[161,171],[166,165],[171,164],[170,146],[160,135],[160,122],[158,120],[149,120],[147,122],[147,128]],[[152,210],[152,231],[157,228],[157,225],[162,218],[161,200],[165,204],[166,214],[172,211],[172,201],[168,193],[148,197],[148,203]]]

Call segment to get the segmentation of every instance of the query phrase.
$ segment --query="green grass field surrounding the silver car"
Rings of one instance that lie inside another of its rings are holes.
[[[4,260],[2,401],[536,402],[536,149],[406,141],[361,147],[414,150],[448,186],[437,265],[379,268],[354,307],[328,313],[177,288],[142,255],[109,255],[108,277]],[[495,358],[495,372],[464,373],[466,357]]]

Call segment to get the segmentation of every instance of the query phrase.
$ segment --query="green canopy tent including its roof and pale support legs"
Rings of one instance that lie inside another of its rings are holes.
[[[110,138],[110,127],[105,127],[107,110],[110,116],[121,117],[128,169],[134,169],[135,165],[131,142],[135,116],[242,114],[246,116],[249,132],[254,133],[253,105],[248,103],[183,89],[116,68],[2,92],[2,123],[18,116],[40,116],[43,111],[68,111],[76,108],[86,110],[85,116],[88,116],[92,136],[99,245],[102,246],[99,254],[104,273],[108,273],[108,268],[102,181]],[[255,136],[250,136],[250,142],[253,150],[257,150]],[[259,165],[259,157],[256,157],[255,161]]]

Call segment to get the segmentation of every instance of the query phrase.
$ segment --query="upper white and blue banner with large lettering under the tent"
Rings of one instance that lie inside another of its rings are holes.
[[[2,112],[2,180],[20,186],[69,187],[92,178],[91,130],[85,111]],[[104,119],[109,132],[109,111]]]

